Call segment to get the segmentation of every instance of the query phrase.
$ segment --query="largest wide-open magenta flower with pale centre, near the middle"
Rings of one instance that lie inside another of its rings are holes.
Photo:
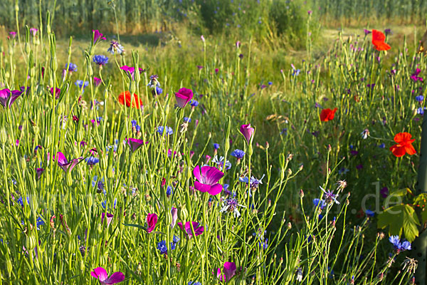
[[[221,193],[223,187],[218,181],[224,176],[223,172],[216,167],[197,165],[193,170],[194,177],[199,181],[194,181],[194,187],[200,192],[208,192],[210,195]]]

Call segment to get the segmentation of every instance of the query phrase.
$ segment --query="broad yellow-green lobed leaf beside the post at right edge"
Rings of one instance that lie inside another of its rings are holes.
[[[420,224],[416,212],[408,204],[398,204],[389,207],[378,216],[377,226],[384,229],[389,226],[389,235],[404,236],[412,242],[418,236],[418,225]]]

